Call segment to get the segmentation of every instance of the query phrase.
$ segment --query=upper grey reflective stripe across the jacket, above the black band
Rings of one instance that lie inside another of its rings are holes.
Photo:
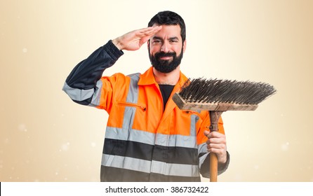
[[[156,134],[140,130],[123,130],[116,127],[107,127],[105,138],[118,139],[124,141],[137,141],[149,145],[171,146],[197,148],[197,137],[183,135]]]

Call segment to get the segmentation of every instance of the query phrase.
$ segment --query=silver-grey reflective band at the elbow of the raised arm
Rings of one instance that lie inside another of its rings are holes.
[[[64,90],[71,99],[75,101],[83,101],[93,96],[93,89],[82,90],[78,88],[72,88],[67,83],[64,83],[62,90]]]

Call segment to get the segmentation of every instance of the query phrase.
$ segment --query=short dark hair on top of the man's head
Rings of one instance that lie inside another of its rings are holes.
[[[148,27],[157,25],[180,25],[180,36],[182,36],[182,43],[186,39],[186,25],[184,20],[172,11],[162,11],[154,15],[154,17],[148,23]]]

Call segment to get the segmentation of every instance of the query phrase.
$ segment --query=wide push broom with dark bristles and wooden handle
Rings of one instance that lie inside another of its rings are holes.
[[[224,111],[255,111],[260,102],[276,90],[267,83],[195,78],[187,80],[173,101],[182,110],[206,110],[210,113],[211,132],[218,131]],[[218,181],[218,158],[210,153],[210,181]]]

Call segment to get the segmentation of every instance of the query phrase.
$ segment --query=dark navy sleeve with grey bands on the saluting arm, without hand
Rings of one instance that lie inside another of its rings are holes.
[[[78,104],[98,106],[102,73],[123,54],[124,52],[116,48],[112,41],[108,41],[74,67],[67,76],[62,90]]]

